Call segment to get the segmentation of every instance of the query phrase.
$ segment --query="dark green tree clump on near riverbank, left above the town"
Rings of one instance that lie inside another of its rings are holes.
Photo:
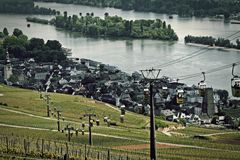
[[[0,32],[0,59],[5,59],[5,53],[18,59],[34,58],[36,62],[53,62],[66,60],[66,53],[62,45],[56,40],[48,40],[28,37],[17,28],[9,35],[8,29]]]

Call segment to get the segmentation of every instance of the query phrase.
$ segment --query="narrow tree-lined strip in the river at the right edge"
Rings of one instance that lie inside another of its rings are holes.
[[[211,36],[203,36],[203,37],[186,36],[185,43],[195,43],[195,44],[203,44],[203,45],[209,45],[209,46],[240,49],[239,39],[237,39],[236,44],[234,44],[229,39],[224,39],[224,38],[216,39]]]

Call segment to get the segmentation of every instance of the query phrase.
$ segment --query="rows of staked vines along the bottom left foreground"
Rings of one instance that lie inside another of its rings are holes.
[[[47,159],[147,160],[148,155],[62,141],[0,135],[0,152]],[[68,155],[66,157],[66,155]]]

